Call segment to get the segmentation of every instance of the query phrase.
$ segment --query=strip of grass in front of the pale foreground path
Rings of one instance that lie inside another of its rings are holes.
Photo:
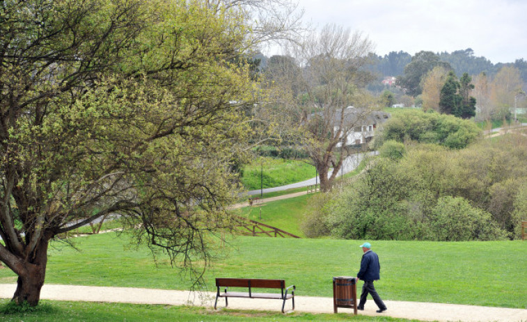
[[[8,300],[0,300],[1,307]],[[353,321],[353,322],[409,322],[385,316],[352,316],[350,314],[309,314],[294,312],[239,311],[222,309],[214,311],[203,307],[168,305],[133,305],[120,303],[81,303],[42,300],[34,312],[1,315],[2,322],[187,322],[187,321]],[[415,321],[415,320],[414,320]]]

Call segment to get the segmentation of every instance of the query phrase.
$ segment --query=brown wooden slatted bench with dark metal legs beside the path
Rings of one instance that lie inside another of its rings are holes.
[[[225,298],[225,307],[228,306],[228,298],[267,298],[274,300],[283,300],[282,313],[284,313],[285,300],[292,300],[294,309],[294,291],[297,289],[294,285],[285,287],[285,280],[265,280],[253,278],[217,278],[216,287],[216,302],[214,309],[218,303],[218,298]],[[225,287],[225,291],[221,293],[220,288]],[[244,288],[247,291],[228,291],[228,287]],[[291,293],[288,293],[290,289]],[[253,293],[253,289],[280,289],[280,293]]]

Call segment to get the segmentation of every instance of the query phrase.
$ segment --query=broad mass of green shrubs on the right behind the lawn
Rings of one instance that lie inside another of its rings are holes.
[[[448,150],[409,145],[372,163],[327,204],[320,220],[348,239],[494,240],[519,237],[526,209],[527,139]]]

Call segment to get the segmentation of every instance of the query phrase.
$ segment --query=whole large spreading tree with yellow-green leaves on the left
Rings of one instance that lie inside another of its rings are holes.
[[[231,227],[253,81],[242,10],[155,0],[0,5],[0,261],[37,305],[47,248],[107,214],[177,265]],[[238,106],[240,105],[240,106]],[[200,271],[195,271],[197,277]]]

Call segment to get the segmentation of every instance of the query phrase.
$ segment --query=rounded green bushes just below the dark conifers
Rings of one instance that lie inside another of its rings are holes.
[[[481,134],[480,129],[469,120],[452,115],[441,115],[434,111],[416,109],[402,110],[386,121],[377,134],[375,144],[379,148],[386,140],[404,143],[408,140],[420,143],[435,143],[462,149],[473,143]]]

